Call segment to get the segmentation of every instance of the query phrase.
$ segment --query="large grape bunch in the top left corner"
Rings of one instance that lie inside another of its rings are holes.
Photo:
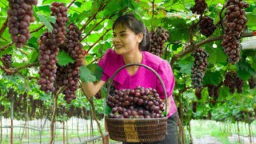
[[[9,33],[15,46],[20,48],[30,38],[30,22],[34,22],[33,6],[37,0],[8,0],[10,9],[7,11]]]

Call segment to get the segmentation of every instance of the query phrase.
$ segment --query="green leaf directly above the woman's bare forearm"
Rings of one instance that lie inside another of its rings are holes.
[[[80,68],[79,74],[82,82],[96,82],[97,80],[93,73],[86,66],[82,66]]]

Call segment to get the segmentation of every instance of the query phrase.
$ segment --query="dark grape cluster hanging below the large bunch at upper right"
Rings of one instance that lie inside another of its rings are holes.
[[[241,78],[238,78],[234,71],[227,72],[225,75],[224,85],[230,88],[230,93],[234,94],[235,88],[238,93],[242,93],[242,86],[244,82]]]

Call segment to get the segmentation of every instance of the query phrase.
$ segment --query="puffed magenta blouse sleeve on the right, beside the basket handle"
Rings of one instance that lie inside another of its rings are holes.
[[[173,94],[174,91],[174,85],[175,85],[175,79],[174,79],[174,73],[170,67],[170,64],[167,61],[163,61],[159,66],[158,66],[158,74],[162,78],[162,82],[164,83],[166,87],[166,93],[167,93],[167,98],[170,97]],[[165,93],[162,87],[162,84],[160,80],[157,78],[157,90],[160,98],[165,98]]]

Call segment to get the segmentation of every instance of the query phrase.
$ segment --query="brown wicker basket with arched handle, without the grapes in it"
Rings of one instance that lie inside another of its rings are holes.
[[[162,83],[165,97],[167,96],[162,78],[155,70],[143,64],[128,64],[119,68],[110,78],[110,85],[108,86],[107,94],[110,93],[110,86],[113,82],[114,76],[127,66],[144,66],[146,69],[154,72]],[[106,130],[109,132],[110,138],[121,142],[162,141],[165,138],[167,130],[167,118],[105,118],[105,122]]]

